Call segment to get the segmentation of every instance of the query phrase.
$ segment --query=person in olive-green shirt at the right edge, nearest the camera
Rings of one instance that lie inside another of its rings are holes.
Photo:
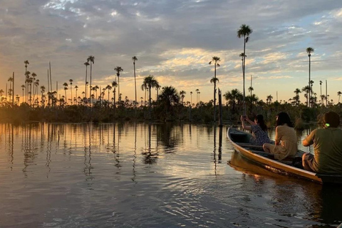
[[[335,112],[323,115],[324,128],[313,130],[303,140],[304,147],[314,145],[314,153],[302,156],[304,170],[322,174],[342,175],[342,130],[340,116]]]

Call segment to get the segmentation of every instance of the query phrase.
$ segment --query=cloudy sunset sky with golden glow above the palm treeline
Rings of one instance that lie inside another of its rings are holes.
[[[51,61],[53,89],[73,79],[84,90],[86,62],[95,56],[93,86],[105,87],[115,80],[121,66],[120,93],[134,99],[132,57],[137,56],[138,100],[145,76],[155,76],[161,86],[185,90],[185,100],[212,99],[212,56],[221,58],[218,87],[223,93],[242,91],[242,24],[253,29],[247,43],[247,88],[254,77],[254,93],[266,100],[294,97],[296,88],[309,81],[307,47],[311,55],[314,92],[319,81],[328,81],[335,101],[342,90],[341,0],[1,0],[0,89],[5,90],[15,73],[15,94],[24,84],[24,61],[46,86]],[[248,90],[247,90],[248,93]],[[70,90],[68,90],[68,96]],[[155,95],[153,90],[152,95]],[[300,94],[304,101],[304,94]]]

